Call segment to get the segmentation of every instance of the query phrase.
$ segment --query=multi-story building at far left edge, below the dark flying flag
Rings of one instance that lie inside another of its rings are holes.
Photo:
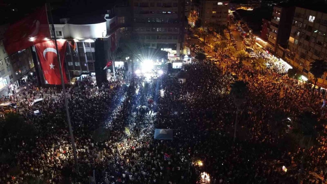
[[[17,89],[28,75],[33,75],[34,63],[31,49],[26,48],[8,55],[3,43],[8,25],[0,26],[0,95],[8,95],[8,87]]]

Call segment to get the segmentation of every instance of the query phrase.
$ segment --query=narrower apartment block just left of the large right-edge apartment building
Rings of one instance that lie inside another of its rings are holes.
[[[286,4],[274,6],[267,42],[270,52],[276,53],[278,45],[287,45],[294,10],[294,6]]]

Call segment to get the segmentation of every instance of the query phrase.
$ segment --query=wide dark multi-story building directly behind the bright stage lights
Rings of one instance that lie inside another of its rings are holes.
[[[187,27],[185,0],[131,0],[133,33],[144,47],[180,56]]]

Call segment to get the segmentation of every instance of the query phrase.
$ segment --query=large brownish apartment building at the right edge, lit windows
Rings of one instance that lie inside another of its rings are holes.
[[[327,13],[295,8],[285,59],[309,78],[310,63],[327,59]],[[318,86],[327,88],[327,74],[318,79]]]

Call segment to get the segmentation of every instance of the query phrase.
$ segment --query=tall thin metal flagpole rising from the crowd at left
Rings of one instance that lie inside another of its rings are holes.
[[[67,122],[68,122],[69,134],[70,134],[70,142],[71,142],[72,147],[73,147],[73,155],[74,155],[75,168],[76,168],[77,173],[78,173],[79,172],[79,168],[78,168],[78,162],[77,162],[77,154],[76,154],[75,140],[74,140],[74,135],[73,135],[72,124],[70,122],[70,115],[69,115],[69,109],[68,109],[68,102],[67,102],[67,95],[66,95],[65,83],[63,81],[63,74],[62,74],[62,69],[61,69],[61,62],[60,62],[60,56],[59,56],[59,51],[58,51],[58,44],[57,44],[55,26],[53,25],[51,7],[50,7],[50,3],[49,2],[47,3],[47,6],[48,6],[48,12],[49,12],[50,21],[51,21],[51,30],[52,30],[52,33],[53,33],[53,40],[55,42],[56,50],[57,50],[57,59],[58,59],[58,66],[59,66],[59,71],[60,71],[60,78],[61,78],[61,87],[62,87],[62,92],[63,92],[63,99],[64,99],[64,102],[65,102]]]

